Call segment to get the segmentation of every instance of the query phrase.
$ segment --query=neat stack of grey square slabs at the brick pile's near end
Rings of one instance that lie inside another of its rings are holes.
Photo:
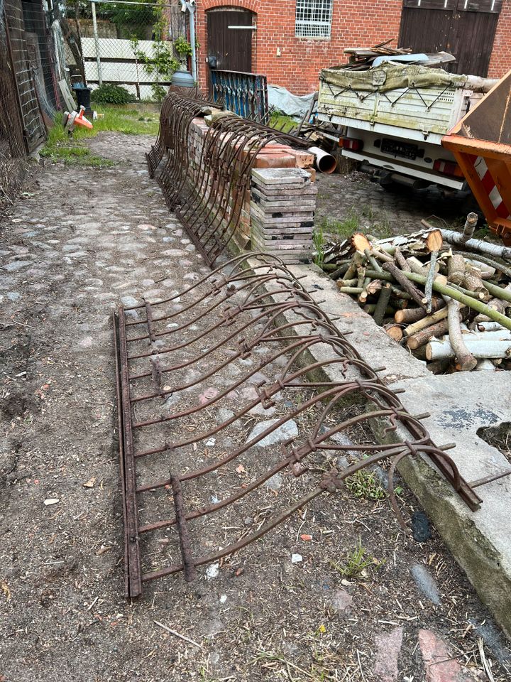
[[[307,263],[317,188],[302,168],[252,171],[251,244],[254,251],[279,256],[286,263]]]

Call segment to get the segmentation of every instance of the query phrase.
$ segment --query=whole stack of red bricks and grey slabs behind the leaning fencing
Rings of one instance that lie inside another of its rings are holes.
[[[277,254],[288,263],[310,261],[317,195],[314,155],[286,144],[266,145],[255,158],[251,189],[243,196],[236,195],[224,191],[221,179],[208,186],[208,175],[200,173],[207,131],[204,119],[193,119],[188,135],[189,180],[200,184],[204,178],[197,190],[211,209],[228,202],[223,206],[225,212],[219,213],[224,221],[233,210],[241,210],[233,236],[238,248]],[[243,155],[239,158],[241,164]]]

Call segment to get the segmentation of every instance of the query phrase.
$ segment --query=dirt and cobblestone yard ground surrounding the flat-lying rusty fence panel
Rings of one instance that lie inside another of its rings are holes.
[[[481,651],[510,680],[507,641],[406,490],[421,542],[387,499],[346,491],[194,583],[177,574],[125,599],[111,313],[209,271],[148,178],[151,142],[101,134],[89,144],[116,166],[46,166],[0,224],[0,681],[469,682],[490,679]],[[296,485],[282,475],[263,504]],[[212,544],[260,521],[230,514],[205,529]],[[370,561],[346,572],[357,548]]]

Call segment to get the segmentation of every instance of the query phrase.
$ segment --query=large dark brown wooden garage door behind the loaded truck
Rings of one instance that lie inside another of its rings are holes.
[[[446,70],[488,75],[502,0],[404,0],[400,47],[445,50],[456,57]]]

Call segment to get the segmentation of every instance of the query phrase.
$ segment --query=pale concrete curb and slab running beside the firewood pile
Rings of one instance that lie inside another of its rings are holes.
[[[511,381],[505,372],[435,376],[424,363],[390,340],[351,298],[340,294],[317,266],[288,268],[295,276],[304,276],[302,286],[315,301],[323,301],[321,308],[336,318],[336,328],[351,332],[349,342],[368,364],[387,366],[380,377],[393,389],[406,390],[400,396],[403,406],[412,414],[432,413],[424,420],[425,426],[437,445],[457,443],[449,455],[466,480],[510,467],[504,455],[477,433],[480,428],[510,420],[507,406],[511,404]],[[282,318],[293,321],[289,313]],[[335,369],[326,369],[324,374],[329,381],[340,378]],[[379,426],[374,421],[373,432],[383,443]],[[427,458],[407,458],[399,468],[480,599],[511,638],[511,477],[478,488],[483,504],[472,512]]]

